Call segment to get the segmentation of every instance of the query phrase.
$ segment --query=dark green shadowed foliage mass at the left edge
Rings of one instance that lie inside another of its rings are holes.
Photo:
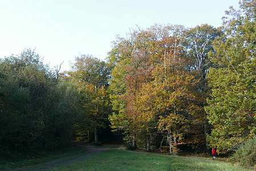
[[[34,50],[0,61],[0,152],[67,145],[78,117],[77,91],[60,83]]]

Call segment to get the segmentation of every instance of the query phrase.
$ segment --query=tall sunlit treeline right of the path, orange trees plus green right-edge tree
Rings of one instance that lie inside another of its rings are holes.
[[[220,28],[154,25],[117,38],[111,127],[132,148],[233,152],[255,136],[255,1]]]

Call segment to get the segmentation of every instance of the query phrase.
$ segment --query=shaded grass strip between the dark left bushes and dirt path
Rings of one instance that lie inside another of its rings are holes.
[[[0,170],[17,168],[21,166],[35,165],[46,161],[56,160],[58,158],[68,157],[75,154],[86,152],[86,148],[82,146],[72,146],[55,152],[40,152],[34,155],[1,157]]]

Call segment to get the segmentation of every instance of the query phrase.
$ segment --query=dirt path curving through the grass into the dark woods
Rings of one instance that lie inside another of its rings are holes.
[[[14,168],[11,170],[50,170],[50,169],[58,167],[58,166],[71,164],[72,162],[75,162],[75,161],[86,160],[87,158],[90,158],[90,157],[94,156],[95,154],[102,153],[105,150],[108,150],[111,148],[111,146],[94,146],[94,145],[82,145],[82,146],[87,148],[87,151],[85,153],[76,154],[76,155],[70,156],[70,157],[59,158],[57,160],[44,162],[44,163],[38,164],[38,165],[24,166],[22,168]]]

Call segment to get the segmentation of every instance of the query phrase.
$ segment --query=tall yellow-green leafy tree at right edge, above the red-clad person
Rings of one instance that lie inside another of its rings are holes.
[[[224,18],[225,34],[214,42],[215,53],[209,84],[209,136],[211,146],[221,153],[235,150],[243,141],[255,136],[255,1],[230,7]]]

